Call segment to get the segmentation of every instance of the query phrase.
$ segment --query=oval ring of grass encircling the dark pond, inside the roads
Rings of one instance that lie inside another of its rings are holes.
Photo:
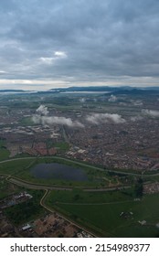
[[[45,163],[58,163],[63,165],[71,165],[75,168],[83,169],[88,176],[88,181],[67,181],[63,179],[44,179],[37,178],[31,174],[29,171],[34,165]],[[26,159],[15,159],[13,161],[8,161],[1,163],[0,165],[0,174],[13,175],[19,178],[22,178],[28,182],[38,183],[38,184],[47,184],[47,185],[57,185],[57,186],[70,186],[70,187],[81,187],[81,186],[90,186],[90,187],[104,187],[110,184],[116,184],[116,179],[114,176],[109,176],[106,172],[102,172],[98,169],[92,169],[91,167],[82,166],[80,164],[73,163],[71,161],[58,159],[58,158],[26,158]]]

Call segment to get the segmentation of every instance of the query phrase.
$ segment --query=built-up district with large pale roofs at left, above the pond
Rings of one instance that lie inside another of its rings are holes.
[[[6,149],[10,152],[10,157],[20,154],[28,155],[56,155],[57,149],[53,146],[60,139],[60,134],[56,133],[57,128],[48,127],[23,127],[0,128],[0,137],[6,141]],[[58,134],[58,135],[57,135]],[[52,144],[49,144],[51,137]]]

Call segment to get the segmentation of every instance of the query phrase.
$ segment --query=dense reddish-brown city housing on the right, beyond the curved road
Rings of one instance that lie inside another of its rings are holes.
[[[94,124],[68,131],[72,145],[67,155],[105,167],[158,170],[158,121]]]

